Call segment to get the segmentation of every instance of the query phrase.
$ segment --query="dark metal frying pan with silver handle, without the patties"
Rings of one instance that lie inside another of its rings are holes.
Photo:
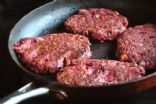
[[[106,101],[130,96],[156,86],[156,72],[147,73],[143,78],[115,85],[77,87],[61,84],[50,74],[35,74],[25,68],[18,60],[13,44],[25,37],[37,37],[49,33],[66,32],[63,22],[79,8],[110,8],[128,17],[129,26],[156,23],[155,0],[54,0],[24,16],[12,29],[8,41],[12,59],[35,83],[30,82],[23,88],[1,100],[4,104],[19,103],[30,97],[54,94],[60,100],[69,101]],[[91,42],[93,58],[115,59],[114,42]],[[33,88],[33,89],[32,89]]]

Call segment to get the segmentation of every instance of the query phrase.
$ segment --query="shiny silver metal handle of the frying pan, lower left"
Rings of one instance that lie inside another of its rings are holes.
[[[19,90],[4,97],[0,101],[0,104],[18,104],[19,102],[28,98],[45,95],[48,93],[55,93],[56,97],[60,100],[64,100],[67,97],[66,93],[61,90],[54,90],[47,87],[34,88],[33,82],[30,82]]]

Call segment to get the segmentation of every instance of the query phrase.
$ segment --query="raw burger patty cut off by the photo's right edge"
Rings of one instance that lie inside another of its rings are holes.
[[[130,27],[118,38],[121,61],[137,63],[146,69],[156,68],[156,25]]]

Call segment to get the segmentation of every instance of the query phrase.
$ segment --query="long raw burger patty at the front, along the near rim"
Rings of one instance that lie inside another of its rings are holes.
[[[143,67],[115,60],[82,59],[63,67],[57,74],[61,83],[74,86],[116,84],[141,78]]]

